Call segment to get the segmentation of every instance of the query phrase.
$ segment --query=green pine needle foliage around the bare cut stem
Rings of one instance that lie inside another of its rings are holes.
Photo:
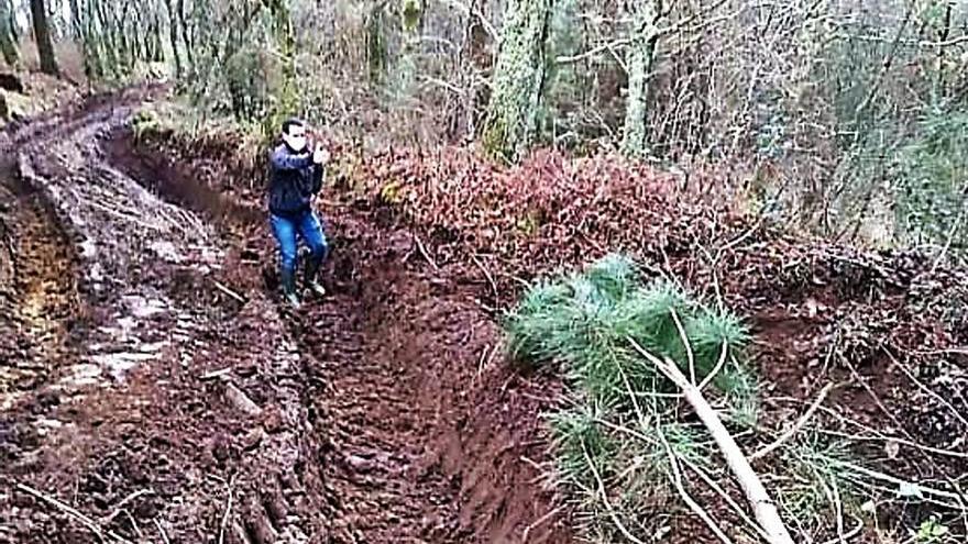
[[[734,435],[751,435],[759,386],[746,364],[750,335],[737,315],[671,281],[647,281],[630,258],[612,254],[535,284],[504,325],[513,360],[560,365],[565,377],[565,407],[548,415],[552,476],[586,541],[648,542],[671,531],[672,518],[685,512],[676,479],[693,496],[735,487],[706,430],[630,340],[674,362],[694,384],[708,382],[704,395]],[[835,469],[847,458],[839,445],[798,440],[777,458],[770,481],[801,536],[829,534],[834,508],[839,519],[858,511]],[[718,504],[721,518],[757,539],[748,515]]]

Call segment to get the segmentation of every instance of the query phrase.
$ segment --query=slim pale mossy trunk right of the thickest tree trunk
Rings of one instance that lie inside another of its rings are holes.
[[[649,73],[656,54],[654,0],[631,0],[629,46],[626,55],[628,90],[625,102],[625,131],[622,152],[641,157],[649,152]]]

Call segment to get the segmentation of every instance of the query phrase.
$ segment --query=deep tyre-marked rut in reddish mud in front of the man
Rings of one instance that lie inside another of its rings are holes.
[[[308,312],[302,334],[327,387],[329,481],[339,501],[339,542],[468,542],[459,487],[426,462],[432,414],[408,390],[405,373],[367,342],[359,300],[339,297]],[[380,336],[375,336],[376,341]],[[403,535],[407,535],[403,537]],[[403,537],[403,540],[402,540]]]

